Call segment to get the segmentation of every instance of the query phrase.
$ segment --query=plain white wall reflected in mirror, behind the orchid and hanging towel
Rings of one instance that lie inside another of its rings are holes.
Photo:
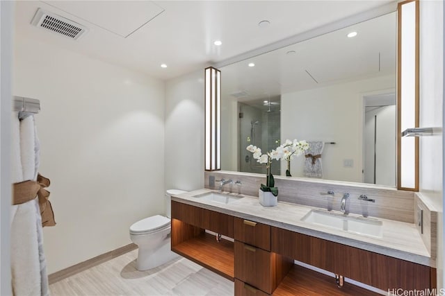
[[[282,94],[282,141],[336,142],[323,150],[323,179],[362,182],[363,96],[395,87],[395,77],[385,76]],[[353,159],[353,167],[344,167],[344,159]],[[293,159],[294,177],[303,175],[304,160]]]

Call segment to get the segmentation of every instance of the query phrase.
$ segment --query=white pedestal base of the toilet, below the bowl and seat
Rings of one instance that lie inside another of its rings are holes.
[[[167,263],[179,257],[178,254],[170,250],[170,237],[166,238],[163,245],[153,251],[151,248],[138,248],[138,259],[136,260],[136,268],[140,271],[156,268],[163,263]]]

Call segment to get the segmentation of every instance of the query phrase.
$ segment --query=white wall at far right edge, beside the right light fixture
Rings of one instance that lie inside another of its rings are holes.
[[[424,128],[443,127],[443,6],[443,1],[420,2],[420,126]],[[437,217],[437,288],[444,287],[442,141],[442,132],[420,138],[420,192],[440,211]]]

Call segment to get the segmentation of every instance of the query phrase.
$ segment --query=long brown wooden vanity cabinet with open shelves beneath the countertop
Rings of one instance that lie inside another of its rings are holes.
[[[218,242],[206,229],[234,242]],[[171,237],[172,251],[234,281],[236,296],[317,295],[322,286],[325,295],[373,295],[355,286],[338,294],[334,279],[294,259],[381,290],[436,287],[435,268],[181,202],[172,201]]]

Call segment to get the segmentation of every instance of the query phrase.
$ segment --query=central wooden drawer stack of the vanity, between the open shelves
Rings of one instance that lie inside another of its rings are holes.
[[[235,218],[234,249],[235,295],[272,294],[293,265],[270,252],[269,225]]]

